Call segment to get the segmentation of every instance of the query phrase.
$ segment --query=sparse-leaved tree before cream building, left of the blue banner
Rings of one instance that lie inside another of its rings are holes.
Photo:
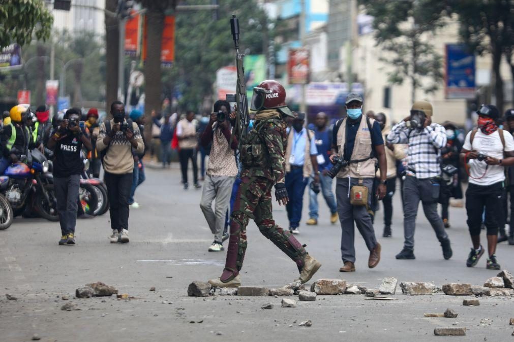
[[[387,51],[380,59],[392,68],[389,82],[401,85],[408,79],[412,102],[418,89],[436,91],[443,81],[443,63],[430,37],[445,25],[446,2],[359,0],[359,4],[374,17],[377,45]]]

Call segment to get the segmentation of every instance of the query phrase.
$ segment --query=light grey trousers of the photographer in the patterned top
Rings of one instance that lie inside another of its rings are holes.
[[[201,193],[200,208],[209,224],[214,240],[222,243],[225,215],[230,204],[230,195],[235,177],[206,175]],[[212,210],[212,202],[214,210]]]

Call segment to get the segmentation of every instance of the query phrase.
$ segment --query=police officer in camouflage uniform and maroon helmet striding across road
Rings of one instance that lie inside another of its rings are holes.
[[[300,282],[306,283],[321,267],[298,240],[276,225],[271,208],[271,190],[279,205],[287,205],[284,184],[287,133],[285,117],[293,116],[285,104],[286,92],[277,81],[268,79],[253,89],[251,110],[256,111],[253,129],[242,142],[240,152],[243,170],[230,224],[225,269],[221,277],[209,280],[216,287],[241,286],[240,271],[247,247],[246,226],[250,218],[261,233],[295,261]]]

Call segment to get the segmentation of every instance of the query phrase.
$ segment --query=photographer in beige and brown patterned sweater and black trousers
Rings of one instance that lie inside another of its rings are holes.
[[[112,243],[128,242],[128,197],[132,188],[132,172],[136,153],[144,151],[144,143],[136,123],[125,120],[125,106],[120,101],[111,104],[112,120],[100,126],[96,148],[105,171],[104,180],[109,199]]]

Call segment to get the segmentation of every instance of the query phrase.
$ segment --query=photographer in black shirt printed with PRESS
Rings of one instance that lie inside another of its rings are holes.
[[[82,144],[88,151],[92,148],[90,140],[79,126],[80,117],[80,109],[68,109],[61,125],[48,141],[48,148],[53,150],[53,187],[62,232],[59,245],[75,245],[77,197],[80,174],[84,169],[80,150]]]

